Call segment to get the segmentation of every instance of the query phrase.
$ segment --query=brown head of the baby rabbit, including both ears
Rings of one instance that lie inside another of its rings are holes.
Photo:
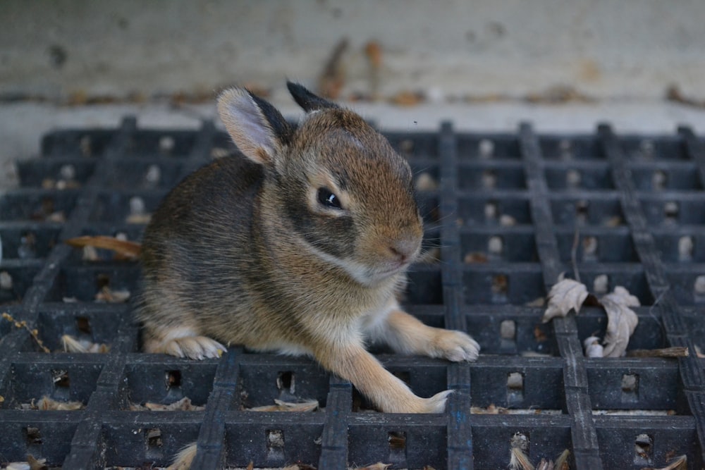
[[[405,271],[423,235],[410,166],[353,111],[288,88],[307,112],[298,126],[242,88],[218,100],[235,144],[264,168],[260,216],[286,230],[290,249],[364,285]]]

